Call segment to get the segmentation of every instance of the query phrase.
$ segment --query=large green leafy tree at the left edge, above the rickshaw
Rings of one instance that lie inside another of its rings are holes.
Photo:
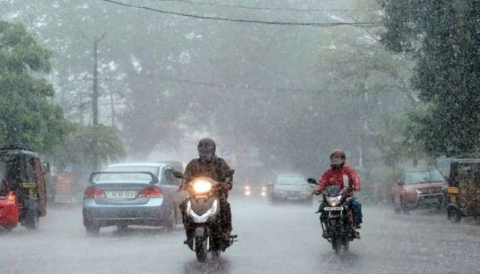
[[[35,76],[49,72],[49,57],[23,25],[0,21],[0,143],[46,152],[71,129],[51,101],[53,86]]]

